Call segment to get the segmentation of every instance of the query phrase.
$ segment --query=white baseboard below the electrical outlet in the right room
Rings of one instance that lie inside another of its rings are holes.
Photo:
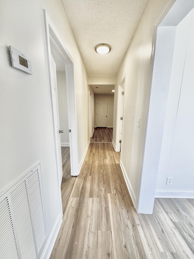
[[[166,190],[158,189],[155,198],[182,198],[194,199],[194,190]]]

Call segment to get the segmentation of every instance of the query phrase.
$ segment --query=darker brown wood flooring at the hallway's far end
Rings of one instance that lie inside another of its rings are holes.
[[[112,142],[112,128],[94,128],[94,134],[90,138],[91,142]]]

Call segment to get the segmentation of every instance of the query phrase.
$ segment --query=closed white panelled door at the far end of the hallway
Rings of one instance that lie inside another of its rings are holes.
[[[96,127],[107,127],[107,100],[96,101]]]

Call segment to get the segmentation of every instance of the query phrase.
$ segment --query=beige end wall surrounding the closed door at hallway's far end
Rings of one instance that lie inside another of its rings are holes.
[[[113,127],[114,94],[95,94],[94,95],[94,127],[96,127],[96,100],[108,100],[107,127]]]

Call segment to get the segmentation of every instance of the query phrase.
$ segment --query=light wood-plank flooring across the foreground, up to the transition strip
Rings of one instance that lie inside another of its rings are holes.
[[[62,180],[63,222],[51,259],[194,258],[194,200],[155,199],[137,214],[112,143],[90,143],[77,177]]]

